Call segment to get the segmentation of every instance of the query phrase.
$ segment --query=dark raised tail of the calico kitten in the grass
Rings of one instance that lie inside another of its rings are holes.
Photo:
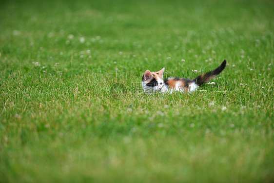
[[[195,78],[193,81],[199,86],[205,82],[210,81],[211,79],[218,76],[225,68],[226,66],[226,60],[222,62],[220,66],[218,66],[215,70],[209,71],[207,73],[201,74],[197,78]]]

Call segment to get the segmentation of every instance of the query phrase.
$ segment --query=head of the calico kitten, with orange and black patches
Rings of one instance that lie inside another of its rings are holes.
[[[163,74],[165,68],[157,72],[146,70],[142,77],[142,86],[146,93],[159,92],[164,86]]]

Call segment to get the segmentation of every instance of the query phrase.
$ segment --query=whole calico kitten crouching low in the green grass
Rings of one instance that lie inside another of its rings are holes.
[[[226,60],[224,60],[215,70],[201,74],[194,80],[177,77],[163,80],[165,68],[162,68],[157,72],[146,70],[142,77],[142,86],[145,93],[160,92],[171,94],[173,91],[191,93],[196,91],[201,84],[208,82],[219,75],[224,70],[225,66]]]

